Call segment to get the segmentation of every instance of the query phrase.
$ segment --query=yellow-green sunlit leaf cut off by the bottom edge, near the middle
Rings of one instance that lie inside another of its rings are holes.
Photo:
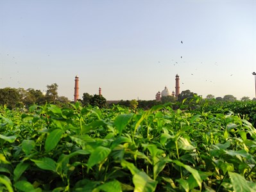
[[[135,173],[132,181],[135,186],[134,192],[151,192],[157,188],[157,181],[151,179],[145,172]]]

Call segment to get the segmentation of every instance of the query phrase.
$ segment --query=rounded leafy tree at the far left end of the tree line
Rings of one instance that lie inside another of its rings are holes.
[[[20,102],[20,95],[15,88],[0,89],[0,104],[6,105],[8,108],[15,108],[16,104]]]

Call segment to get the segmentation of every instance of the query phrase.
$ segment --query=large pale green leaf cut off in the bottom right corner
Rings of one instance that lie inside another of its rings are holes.
[[[238,173],[228,172],[228,175],[230,177],[233,189],[235,192],[251,192],[253,191],[252,188],[248,185],[248,182],[242,175],[239,175]]]

